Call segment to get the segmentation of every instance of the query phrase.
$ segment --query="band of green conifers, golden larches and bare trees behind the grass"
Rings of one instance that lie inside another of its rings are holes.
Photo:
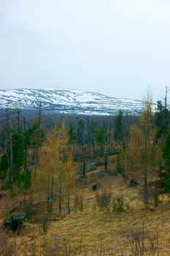
[[[158,187],[170,192],[169,118],[161,101],[152,112],[150,95],[139,116],[119,110],[117,116],[55,118],[43,115],[39,105],[36,117],[27,118],[21,110],[6,109],[0,120],[1,189],[9,189],[11,196],[29,189],[44,191],[48,211],[53,207],[50,199],[58,197],[60,213],[64,197],[70,212],[77,178],[85,178],[100,162],[111,175],[136,176],[140,171],[144,206],[151,196],[156,205]],[[111,156],[117,159],[114,167],[109,165]],[[155,182],[150,182],[150,173]]]

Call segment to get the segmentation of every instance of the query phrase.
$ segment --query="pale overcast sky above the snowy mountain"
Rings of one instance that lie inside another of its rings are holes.
[[[170,87],[169,0],[0,0],[0,89],[148,86],[154,101]]]

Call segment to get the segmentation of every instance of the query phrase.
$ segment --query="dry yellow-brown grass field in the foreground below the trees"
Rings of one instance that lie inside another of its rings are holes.
[[[96,191],[94,182],[100,184]],[[1,229],[1,255],[170,255],[169,196],[145,210],[139,190],[128,188],[121,176],[84,178],[72,196],[71,214],[58,217],[54,203],[52,214],[40,212],[19,234]],[[96,200],[102,193],[109,196],[105,208]],[[75,197],[82,199],[77,208]],[[123,211],[112,211],[117,197],[123,198]],[[2,216],[9,200],[0,203]]]

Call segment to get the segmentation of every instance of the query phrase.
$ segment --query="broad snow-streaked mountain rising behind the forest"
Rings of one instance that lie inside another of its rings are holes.
[[[139,113],[143,102],[117,99],[90,91],[71,89],[10,89],[0,90],[0,108],[34,110],[42,104],[45,113],[72,115],[115,115]]]

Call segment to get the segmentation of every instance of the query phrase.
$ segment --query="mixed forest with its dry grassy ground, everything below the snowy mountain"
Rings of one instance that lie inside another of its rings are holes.
[[[1,111],[0,255],[169,255],[169,120]]]

